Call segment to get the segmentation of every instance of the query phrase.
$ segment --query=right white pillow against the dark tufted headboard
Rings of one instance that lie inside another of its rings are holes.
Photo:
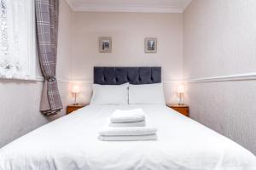
[[[163,84],[129,85],[129,104],[166,105]]]

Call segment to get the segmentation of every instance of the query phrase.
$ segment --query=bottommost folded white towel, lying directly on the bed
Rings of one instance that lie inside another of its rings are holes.
[[[138,140],[156,140],[156,134],[139,135],[139,136],[99,136],[104,141],[138,141]]]

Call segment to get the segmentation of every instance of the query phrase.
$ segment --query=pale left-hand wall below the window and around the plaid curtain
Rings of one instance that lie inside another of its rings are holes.
[[[57,78],[63,105],[68,103],[68,78],[71,77],[71,19],[72,11],[60,1],[60,29],[58,41]],[[38,66],[39,67],[39,66]],[[38,77],[40,77],[38,68]],[[39,112],[43,82],[0,79],[0,148],[21,135],[55,120],[57,116],[43,116]]]

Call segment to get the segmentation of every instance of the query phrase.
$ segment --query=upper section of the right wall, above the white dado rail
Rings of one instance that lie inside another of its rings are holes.
[[[253,0],[194,0],[184,12],[184,78],[255,71],[255,8]]]

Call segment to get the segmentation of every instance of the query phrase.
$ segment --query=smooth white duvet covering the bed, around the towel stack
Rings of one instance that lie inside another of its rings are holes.
[[[101,141],[98,132],[116,109],[143,108],[155,141]],[[89,105],[39,127],[0,149],[0,169],[255,170],[239,144],[163,105]]]

